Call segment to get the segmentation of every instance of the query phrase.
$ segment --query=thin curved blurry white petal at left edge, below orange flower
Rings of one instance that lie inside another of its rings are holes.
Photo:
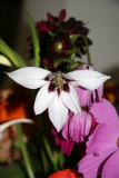
[[[3,132],[3,130],[6,130],[8,127],[12,126],[12,125],[16,125],[16,123],[34,123],[31,119],[16,119],[16,120],[10,120],[10,121],[7,121],[4,123],[1,123],[0,125],[0,132]]]

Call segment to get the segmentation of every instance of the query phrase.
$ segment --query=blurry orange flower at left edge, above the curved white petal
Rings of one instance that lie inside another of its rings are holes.
[[[0,90],[0,122],[27,118],[32,115],[30,96],[22,88]]]

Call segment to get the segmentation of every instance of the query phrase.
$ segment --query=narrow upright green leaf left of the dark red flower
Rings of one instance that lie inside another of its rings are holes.
[[[27,11],[26,11],[27,12]],[[40,44],[38,33],[36,31],[34,23],[31,16],[27,12],[28,21],[31,28],[32,40],[33,40],[33,51],[34,51],[34,67],[40,67]]]

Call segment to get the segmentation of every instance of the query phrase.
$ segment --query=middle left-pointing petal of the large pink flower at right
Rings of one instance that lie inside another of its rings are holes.
[[[98,155],[108,149],[110,149],[110,151],[116,151],[118,149],[118,135],[119,131],[115,134],[115,129],[110,128],[108,125],[101,123],[97,126],[87,142],[87,154]]]

